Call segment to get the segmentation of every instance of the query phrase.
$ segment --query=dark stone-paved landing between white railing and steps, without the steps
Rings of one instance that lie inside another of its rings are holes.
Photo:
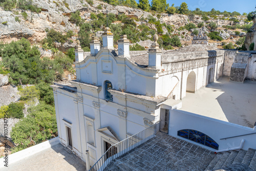
[[[158,133],[146,143],[114,160],[105,171],[204,170],[216,155],[207,149]]]

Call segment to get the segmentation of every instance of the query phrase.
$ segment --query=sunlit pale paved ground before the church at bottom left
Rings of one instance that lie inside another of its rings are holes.
[[[22,157],[22,156],[21,156]],[[47,148],[33,156],[19,160],[8,168],[1,171],[57,171],[57,170],[86,170],[86,163],[72,153],[66,151],[61,145],[57,144],[51,148]]]

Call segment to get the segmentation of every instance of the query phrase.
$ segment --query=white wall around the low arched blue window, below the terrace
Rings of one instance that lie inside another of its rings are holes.
[[[219,144],[219,149],[237,147],[240,145],[242,139],[245,139],[243,149],[256,149],[256,134],[220,140],[221,138],[256,133],[255,127],[251,129],[249,127],[241,126],[238,124],[229,123],[180,110],[170,111],[170,136],[183,139],[196,145],[200,145],[204,148],[210,149],[211,151],[216,151],[214,148],[210,148],[197,142],[177,136],[177,132],[184,129],[197,130],[208,135]]]

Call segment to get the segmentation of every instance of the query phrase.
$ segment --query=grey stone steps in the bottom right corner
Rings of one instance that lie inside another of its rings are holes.
[[[215,158],[211,160],[205,171],[224,169],[230,165],[236,167],[239,166],[239,164],[241,167],[244,167],[243,169],[245,171],[256,171],[256,150],[249,148],[248,151],[240,149],[239,151],[218,153]]]

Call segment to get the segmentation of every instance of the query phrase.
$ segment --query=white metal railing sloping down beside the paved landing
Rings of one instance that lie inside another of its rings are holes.
[[[156,136],[156,124],[147,129],[128,137],[111,147],[101,156],[89,171],[103,171],[114,159],[130,152],[135,147],[143,144]]]

